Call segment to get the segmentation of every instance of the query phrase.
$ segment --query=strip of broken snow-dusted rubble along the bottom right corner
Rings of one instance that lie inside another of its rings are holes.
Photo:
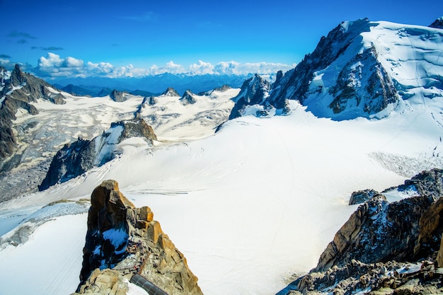
[[[277,295],[347,295],[359,291],[369,295],[442,294],[442,278],[443,268],[432,261],[366,264],[352,260],[342,267],[300,277]]]

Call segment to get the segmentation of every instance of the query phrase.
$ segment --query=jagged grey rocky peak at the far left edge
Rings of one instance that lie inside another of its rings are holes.
[[[18,139],[14,136],[12,121],[16,120],[18,108],[27,110],[30,115],[36,115],[38,110],[30,103],[39,98],[54,104],[64,104],[65,100],[62,94],[49,91],[49,83],[24,73],[18,64],[11,72],[10,79],[6,80],[1,75],[1,86],[3,89],[0,91],[0,98],[4,100],[0,105],[0,171],[6,171],[5,167],[13,168],[4,161],[16,149]]]

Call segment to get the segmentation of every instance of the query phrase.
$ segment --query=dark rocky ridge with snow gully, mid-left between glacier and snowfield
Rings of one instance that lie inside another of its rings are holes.
[[[72,144],[65,144],[52,158],[46,177],[38,189],[46,190],[56,183],[76,178],[95,166],[102,166],[120,152],[117,144],[130,137],[142,137],[149,144],[157,140],[152,127],[141,118],[114,122],[110,129],[92,140],[79,138]]]

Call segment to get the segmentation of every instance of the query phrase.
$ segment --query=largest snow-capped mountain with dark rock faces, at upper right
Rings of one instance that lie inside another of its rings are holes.
[[[419,111],[443,96],[442,42],[439,28],[343,22],[277,79],[260,105],[282,109],[285,100],[299,100],[314,115],[333,120]]]

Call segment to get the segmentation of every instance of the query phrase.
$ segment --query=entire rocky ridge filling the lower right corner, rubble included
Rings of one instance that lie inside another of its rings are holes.
[[[433,169],[381,194],[362,191],[372,197],[335,234],[318,265],[278,294],[442,294],[442,184],[443,170]],[[416,195],[398,202],[382,195],[405,190]]]

